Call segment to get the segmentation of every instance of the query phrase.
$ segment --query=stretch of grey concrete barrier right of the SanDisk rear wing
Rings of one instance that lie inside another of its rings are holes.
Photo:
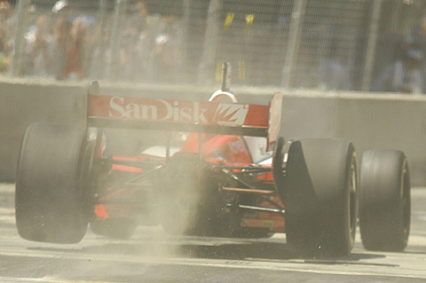
[[[329,93],[284,99],[285,138],[343,138],[359,154],[393,148],[406,153],[414,185],[426,179],[426,98]]]

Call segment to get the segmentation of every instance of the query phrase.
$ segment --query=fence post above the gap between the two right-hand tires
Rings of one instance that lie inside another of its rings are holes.
[[[382,0],[375,0],[373,4],[373,15],[370,22],[370,30],[368,32],[366,65],[364,67],[364,75],[362,78],[362,90],[370,90],[371,75],[375,64],[375,46],[377,44],[377,31],[379,28],[380,13],[382,11]]]

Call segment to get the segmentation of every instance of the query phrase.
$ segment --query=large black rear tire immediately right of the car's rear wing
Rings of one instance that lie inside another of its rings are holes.
[[[285,200],[287,242],[296,255],[348,255],[358,216],[358,165],[350,142],[302,139],[290,145]]]

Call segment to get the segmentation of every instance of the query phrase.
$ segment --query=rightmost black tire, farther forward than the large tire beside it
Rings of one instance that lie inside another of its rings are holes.
[[[398,252],[410,232],[408,164],[397,150],[370,150],[361,165],[359,228],[364,248]]]

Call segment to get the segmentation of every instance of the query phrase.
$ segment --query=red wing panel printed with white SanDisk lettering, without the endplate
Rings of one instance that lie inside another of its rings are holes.
[[[91,95],[88,116],[114,120],[267,127],[268,106]]]

